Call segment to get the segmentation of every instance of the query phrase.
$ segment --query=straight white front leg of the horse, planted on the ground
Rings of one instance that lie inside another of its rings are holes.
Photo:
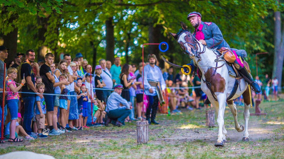
[[[219,133],[218,133],[218,139],[215,143],[214,146],[216,147],[224,147],[224,141],[223,141],[223,126],[224,126],[224,112],[225,112],[225,107],[226,107],[226,94],[224,93],[215,93],[217,96],[218,100],[218,118],[217,118],[217,123],[219,126]]]

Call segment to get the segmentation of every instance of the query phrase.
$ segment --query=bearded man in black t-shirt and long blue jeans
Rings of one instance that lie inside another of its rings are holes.
[[[36,54],[34,50],[29,49],[26,51],[26,61],[21,66],[21,78],[26,79],[26,84],[22,87],[22,92],[39,93],[35,87],[35,77],[30,65],[34,62]],[[25,75],[25,77],[23,77]],[[36,94],[37,96],[43,97],[42,94]],[[34,115],[34,103],[36,101],[35,94],[22,93],[22,100],[24,101],[24,121],[23,128],[26,133],[34,138],[37,136],[32,133],[31,122]]]

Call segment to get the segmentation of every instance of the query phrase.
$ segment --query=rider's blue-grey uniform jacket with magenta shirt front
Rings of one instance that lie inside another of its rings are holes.
[[[221,47],[230,48],[229,44],[223,39],[223,35],[219,27],[215,23],[212,23],[212,22],[202,22],[201,21],[199,27],[195,29],[193,36],[197,40],[201,40],[201,39],[205,40],[209,48],[213,48],[213,49],[214,48],[220,49]]]

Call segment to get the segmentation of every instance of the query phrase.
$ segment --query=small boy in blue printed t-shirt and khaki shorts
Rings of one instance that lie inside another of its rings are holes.
[[[39,93],[44,92],[44,84],[38,83],[36,85],[36,90]],[[45,115],[46,114],[46,105],[44,101],[44,97],[42,99],[39,96],[36,96],[36,125],[37,125],[37,132],[38,138],[47,138],[47,135],[43,135],[41,130],[44,129],[44,122],[45,122]]]

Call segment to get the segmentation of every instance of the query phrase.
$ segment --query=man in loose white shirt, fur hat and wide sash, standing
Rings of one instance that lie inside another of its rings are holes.
[[[146,111],[146,120],[149,121],[149,124],[159,124],[158,122],[155,121],[157,109],[158,109],[158,90],[156,90],[156,86],[151,86],[149,84],[149,80],[155,81],[160,83],[158,87],[161,87],[162,94],[165,94],[165,89],[166,89],[166,83],[162,75],[162,71],[158,66],[156,66],[157,58],[154,54],[149,54],[148,55],[148,61],[149,65],[146,65],[144,67],[144,89],[145,89],[145,94],[147,95],[149,99],[149,107],[147,108]],[[152,114],[151,114],[151,122],[150,122],[150,113],[152,109]]]

